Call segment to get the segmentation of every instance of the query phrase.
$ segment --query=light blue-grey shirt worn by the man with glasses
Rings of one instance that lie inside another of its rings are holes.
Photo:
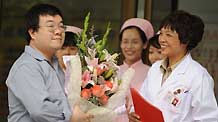
[[[69,122],[71,109],[64,93],[64,73],[37,50],[25,47],[8,78],[8,122]]]

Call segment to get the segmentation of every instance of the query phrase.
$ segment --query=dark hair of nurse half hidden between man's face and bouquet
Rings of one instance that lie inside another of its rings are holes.
[[[73,32],[65,32],[65,39],[63,46],[74,46],[76,47],[77,35]]]

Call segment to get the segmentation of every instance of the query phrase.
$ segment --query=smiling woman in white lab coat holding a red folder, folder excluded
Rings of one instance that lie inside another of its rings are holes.
[[[184,11],[170,14],[160,26],[166,58],[152,65],[140,93],[162,111],[165,122],[218,122],[214,81],[190,54],[203,32],[202,20]],[[129,120],[140,117],[132,112]]]

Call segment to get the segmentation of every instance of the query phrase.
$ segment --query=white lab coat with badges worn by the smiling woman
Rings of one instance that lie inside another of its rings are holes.
[[[207,70],[187,54],[161,85],[161,63],[152,65],[140,93],[162,111],[165,122],[218,122],[214,81]]]

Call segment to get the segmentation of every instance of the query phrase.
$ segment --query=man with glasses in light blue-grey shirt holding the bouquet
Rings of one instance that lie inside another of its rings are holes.
[[[54,57],[64,43],[60,10],[38,4],[26,14],[28,46],[12,66],[8,86],[8,122],[89,122],[91,115],[73,111],[64,93],[64,73]]]

